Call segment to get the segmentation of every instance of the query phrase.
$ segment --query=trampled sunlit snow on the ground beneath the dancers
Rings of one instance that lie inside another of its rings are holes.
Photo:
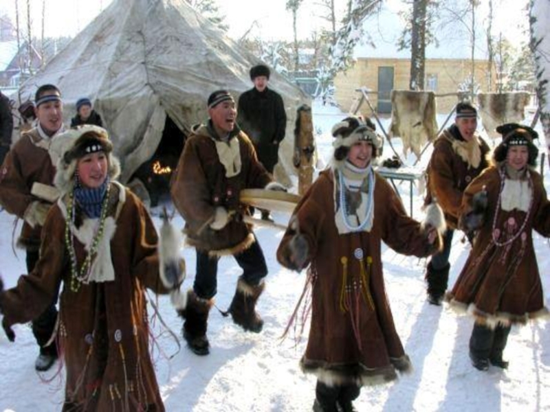
[[[325,161],[331,155],[331,137],[327,131],[342,117],[336,108],[314,104],[315,127],[323,132],[318,139],[319,152]],[[387,130],[388,122],[384,122]],[[394,146],[400,150],[398,140]],[[391,157],[392,154],[391,148],[384,148],[384,156]],[[547,165],[544,174],[549,191]],[[408,183],[397,187],[408,207]],[[414,216],[419,218],[422,216],[421,196],[417,189],[413,201]],[[280,222],[287,222],[288,217],[275,214]],[[155,222],[159,224],[158,218]],[[183,225],[181,218],[176,222]],[[17,277],[25,272],[25,255],[19,250],[14,255],[12,233],[19,233],[19,227],[14,232],[12,216],[0,212],[0,271],[8,287],[14,286]],[[315,379],[305,376],[298,368],[305,340],[295,344],[292,333],[285,341],[280,339],[303,288],[305,275],[287,271],[276,262],[275,251],[282,236],[280,231],[259,228],[256,235],[270,269],[267,288],[258,307],[265,320],[261,334],[243,332],[214,308],[208,323],[211,353],[199,357],[186,349],[183,342],[177,352],[177,343],[165,328],[161,334],[163,328],[159,328],[159,320],[153,319],[158,332],[153,357],[168,411],[311,410]],[[461,238],[461,233],[456,232],[450,258],[450,285],[469,251],[467,242],[461,242]],[[548,291],[550,244],[538,234],[534,240],[544,290]],[[183,249],[182,253],[188,267],[184,286],[188,288],[195,277],[195,252]],[[383,261],[397,331],[415,369],[397,382],[362,389],[355,402],[358,411],[550,410],[548,323],[532,323],[512,329],[505,351],[505,358],[510,361],[507,371],[494,367],[487,372],[477,371],[467,356],[472,319],[459,317],[445,306],[430,306],[425,301],[423,273],[426,260],[407,258],[384,248]],[[240,273],[232,258],[220,261],[216,304],[221,310],[228,308]],[[157,305],[168,327],[181,336],[181,319],[170,308],[168,300],[160,297]],[[151,307],[149,314],[153,314]],[[34,358],[37,347],[30,327],[17,325],[14,330],[17,334],[15,343],[10,343],[0,332],[0,411],[61,410],[65,385],[63,371],[57,375],[56,371],[41,376],[36,374]],[[50,378],[52,382],[43,382],[43,379]]]

